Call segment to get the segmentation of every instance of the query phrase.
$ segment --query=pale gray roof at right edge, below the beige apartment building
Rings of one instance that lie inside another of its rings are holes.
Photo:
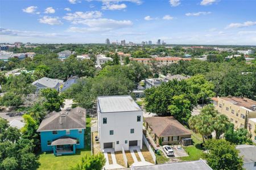
[[[243,156],[244,163],[256,162],[256,146],[254,145],[238,145],[239,155]]]

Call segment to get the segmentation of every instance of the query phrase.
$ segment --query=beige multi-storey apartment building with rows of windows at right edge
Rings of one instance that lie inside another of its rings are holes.
[[[218,112],[228,116],[235,129],[246,128],[255,142],[256,101],[246,97],[213,97]]]

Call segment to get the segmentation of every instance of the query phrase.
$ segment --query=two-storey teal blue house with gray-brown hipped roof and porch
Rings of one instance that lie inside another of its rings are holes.
[[[42,151],[59,156],[75,154],[77,148],[84,148],[85,117],[86,110],[81,107],[47,114],[37,130]]]

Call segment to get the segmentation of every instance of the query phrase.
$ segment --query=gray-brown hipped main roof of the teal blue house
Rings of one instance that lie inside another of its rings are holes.
[[[86,110],[76,107],[70,111],[52,112],[44,117],[37,131],[85,129]]]

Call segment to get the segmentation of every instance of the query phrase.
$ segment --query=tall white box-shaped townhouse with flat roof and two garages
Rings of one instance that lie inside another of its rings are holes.
[[[97,114],[101,151],[142,149],[143,112],[130,95],[97,97]]]

